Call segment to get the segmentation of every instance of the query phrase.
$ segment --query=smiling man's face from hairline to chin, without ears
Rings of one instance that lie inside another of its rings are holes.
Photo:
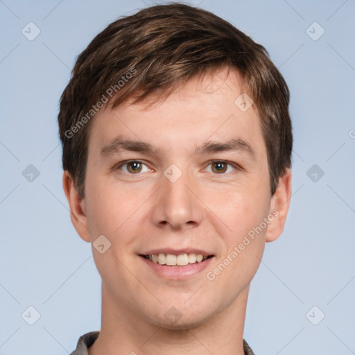
[[[89,232],[81,236],[94,243],[103,235],[111,243],[93,253],[103,302],[113,312],[116,304],[137,321],[179,328],[246,300],[269,225],[248,237],[248,245],[245,236],[268,218],[273,200],[259,118],[253,106],[243,112],[243,104],[235,103],[242,94],[239,80],[223,70],[213,80],[190,80],[149,110],[144,103],[124,104],[93,119],[81,202]],[[117,137],[153,151],[110,146]],[[211,141],[232,139],[232,150],[203,150]],[[187,250],[213,257],[159,266],[141,256]]]

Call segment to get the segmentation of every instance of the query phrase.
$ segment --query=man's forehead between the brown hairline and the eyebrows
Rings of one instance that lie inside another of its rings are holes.
[[[227,75],[223,69],[214,76],[206,73],[189,80],[148,108],[144,101],[134,105],[128,101],[113,110],[107,107],[93,119],[89,154],[105,155],[114,150],[115,141],[122,148],[125,139],[141,141],[141,148],[159,153],[186,150],[191,154],[208,141],[234,141],[240,150],[257,153],[263,145],[259,117],[253,106],[241,110],[241,90],[239,73],[231,70]]]

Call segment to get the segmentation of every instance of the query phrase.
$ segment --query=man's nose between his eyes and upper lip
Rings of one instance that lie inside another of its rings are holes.
[[[187,171],[178,180],[162,175],[161,187],[155,196],[153,223],[157,227],[185,230],[200,225],[203,204],[199,198],[198,184]]]

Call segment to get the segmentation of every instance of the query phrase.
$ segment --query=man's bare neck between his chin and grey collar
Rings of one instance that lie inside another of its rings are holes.
[[[102,286],[101,331],[89,355],[244,355],[243,329],[249,286],[230,306],[202,324],[166,329],[118,304]]]

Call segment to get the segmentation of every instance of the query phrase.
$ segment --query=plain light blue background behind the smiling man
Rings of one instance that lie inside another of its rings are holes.
[[[58,100],[94,35],[146,4],[0,1],[1,355],[68,354],[100,329],[100,278],[62,191]],[[256,355],[355,354],[355,1],[200,7],[266,46],[291,90],[291,208],[252,281],[244,337]],[[21,33],[29,21],[41,31],[33,41]],[[306,33],[314,21],[325,31],[317,41]],[[33,182],[21,175],[28,164],[40,171]],[[313,164],[318,182],[306,175]],[[41,314],[32,326],[28,306]],[[313,306],[325,313],[316,326]]]

